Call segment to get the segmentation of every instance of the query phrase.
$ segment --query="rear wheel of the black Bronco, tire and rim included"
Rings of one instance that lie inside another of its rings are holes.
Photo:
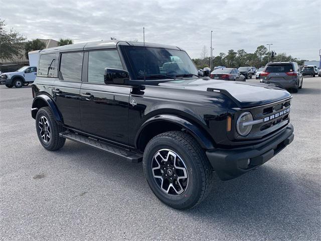
[[[64,128],[57,124],[49,107],[42,107],[36,115],[36,130],[41,145],[49,151],[62,148],[66,139],[59,137]]]

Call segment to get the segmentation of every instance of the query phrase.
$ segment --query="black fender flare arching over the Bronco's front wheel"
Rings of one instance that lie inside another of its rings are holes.
[[[184,119],[180,116],[174,115],[174,114],[157,114],[145,121],[141,127],[139,128],[136,136],[135,136],[135,144],[137,146],[137,143],[139,141],[139,137],[141,132],[144,130],[145,127],[150,125],[151,123],[157,122],[157,121],[165,121],[169,123],[174,123],[182,127],[182,129],[185,129],[189,134],[191,134],[197,142],[201,145],[204,149],[214,149],[213,141],[209,137],[209,135],[199,128],[198,126],[194,125],[190,121],[187,121],[187,119]]]

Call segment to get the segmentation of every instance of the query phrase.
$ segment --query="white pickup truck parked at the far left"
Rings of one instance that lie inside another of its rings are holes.
[[[15,86],[20,88],[24,85],[33,83],[36,79],[37,67],[24,66],[15,72],[2,73],[0,78],[0,84],[5,84],[8,88]]]

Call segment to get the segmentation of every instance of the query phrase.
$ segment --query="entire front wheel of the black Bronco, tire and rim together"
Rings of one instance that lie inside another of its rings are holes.
[[[144,151],[143,170],[152,192],[173,208],[192,208],[211,190],[213,170],[205,152],[183,132],[152,138]]]

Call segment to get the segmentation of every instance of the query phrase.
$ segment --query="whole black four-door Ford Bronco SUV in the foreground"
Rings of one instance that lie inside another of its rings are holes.
[[[40,51],[31,114],[40,143],[69,139],[143,162],[153,193],[186,209],[293,141],[291,95],[212,80],[179,47],[99,41]]]

